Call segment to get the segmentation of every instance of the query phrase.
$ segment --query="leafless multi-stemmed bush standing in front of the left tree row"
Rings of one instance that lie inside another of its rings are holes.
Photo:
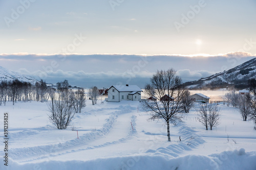
[[[66,93],[63,91],[58,95],[58,100],[54,100],[53,104],[52,102],[47,103],[48,110],[51,112],[49,119],[58,129],[66,129],[70,125],[75,112],[66,98]]]

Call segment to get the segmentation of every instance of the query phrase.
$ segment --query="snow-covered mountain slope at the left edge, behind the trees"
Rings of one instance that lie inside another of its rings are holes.
[[[0,66],[0,82],[1,81],[12,81],[14,79],[17,79],[21,82],[30,82],[31,84],[35,84],[37,82],[36,79],[26,76],[26,75],[21,75],[18,72],[8,70],[7,68],[4,68]]]

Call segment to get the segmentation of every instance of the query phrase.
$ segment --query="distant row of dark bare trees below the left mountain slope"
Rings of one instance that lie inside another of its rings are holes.
[[[11,101],[13,105],[17,102],[46,102],[53,100],[64,100],[74,107],[75,112],[81,112],[85,105],[84,89],[72,90],[68,80],[58,82],[56,88],[47,86],[44,80],[36,82],[34,85],[29,82],[21,82],[17,79],[0,82],[0,106]]]

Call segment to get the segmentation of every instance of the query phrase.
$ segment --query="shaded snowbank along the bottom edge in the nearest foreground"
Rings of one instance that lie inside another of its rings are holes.
[[[186,155],[169,158],[167,155],[142,154],[126,157],[112,157],[89,161],[47,161],[19,164],[9,159],[9,169],[256,169],[256,152],[244,149],[225,151],[209,156]],[[3,163],[0,169],[5,169]]]

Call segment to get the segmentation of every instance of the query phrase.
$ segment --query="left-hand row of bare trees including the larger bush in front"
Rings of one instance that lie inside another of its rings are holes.
[[[58,82],[56,88],[48,87],[40,80],[32,85],[19,80],[2,81],[0,83],[0,105],[7,101],[16,102],[40,101],[47,102],[50,111],[49,119],[58,129],[66,129],[74,114],[86,107],[86,95],[83,88],[72,90],[67,80]],[[96,99],[97,100],[97,99]]]

